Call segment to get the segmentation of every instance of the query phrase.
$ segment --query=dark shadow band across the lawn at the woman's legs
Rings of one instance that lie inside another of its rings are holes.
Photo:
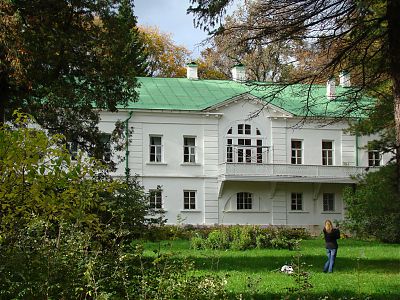
[[[293,252],[293,256],[296,255]],[[210,255],[204,257],[191,257],[195,262],[196,268],[207,271],[244,271],[260,272],[279,270],[285,264],[291,264],[293,257],[282,256],[257,256],[257,257],[238,257],[223,255]],[[323,255],[302,255],[301,262],[306,263],[309,271],[321,272],[326,261]],[[367,271],[371,273],[396,274],[400,272],[400,264],[397,259],[367,259],[367,258],[347,258],[337,257],[335,264],[336,272],[352,272],[354,270]]]

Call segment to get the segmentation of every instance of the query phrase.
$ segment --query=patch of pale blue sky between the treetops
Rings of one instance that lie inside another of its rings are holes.
[[[207,34],[193,25],[193,15],[186,14],[189,0],[135,0],[135,15],[139,25],[157,26],[161,32],[171,33],[175,44],[192,51],[192,58],[200,56],[199,45]]]

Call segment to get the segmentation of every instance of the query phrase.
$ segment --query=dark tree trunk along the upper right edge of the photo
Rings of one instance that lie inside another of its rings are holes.
[[[400,195],[400,1],[388,0],[388,46],[390,75],[393,83],[394,120],[396,125],[397,191]]]

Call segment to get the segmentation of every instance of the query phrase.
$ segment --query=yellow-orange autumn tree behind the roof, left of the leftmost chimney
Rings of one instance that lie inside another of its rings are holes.
[[[158,27],[140,26],[139,31],[143,36],[150,76],[186,76],[185,64],[190,55],[187,48],[176,45],[172,34],[162,32]]]

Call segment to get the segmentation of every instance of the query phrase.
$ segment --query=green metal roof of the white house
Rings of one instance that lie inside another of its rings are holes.
[[[296,116],[335,117],[349,109],[349,88],[336,87],[334,100],[325,85],[240,83],[231,80],[139,77],[139,99],[126,109],[203,111],[239,95],[250,94]],[[364,102],[366,100],[363,100]],[[367,100],[371,103],[370,100]],[[358,115],[358,114],[357,114]],[[353,116],[354,113],[353,113]],[[360,113],[361,116],[361,113]]]

